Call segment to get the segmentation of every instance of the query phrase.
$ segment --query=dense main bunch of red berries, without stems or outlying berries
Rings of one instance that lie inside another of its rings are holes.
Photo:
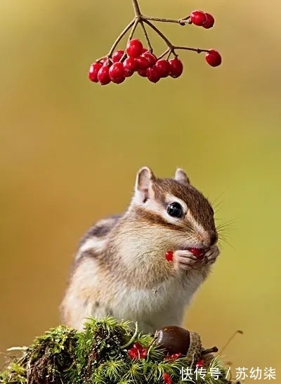
[[[103,58],[93,63],[89,69],[89,79],[101,85],[113,82],[121,84],[126,77],[134,72],[147,77],[150,82],[157,83],[164,77],[179,77],[183,72],[183,63],[178,58],[171,60],[157,59],[157,57],[143,47],[138,39],[131,39],[126,52],[122,49],[115,51],[110,58]]]

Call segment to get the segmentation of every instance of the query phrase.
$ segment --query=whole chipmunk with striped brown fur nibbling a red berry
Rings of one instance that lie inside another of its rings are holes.
[[[138,322],[143,333],[181,326],[220,253],[217,241],[214,210],[183,169],[162,179],[142,167],[126,212],[101,219],[81,239],[60,305],[63,323],[82,331],[89,316],[114,316]],[[202,260],[190,248],[202,249]]]

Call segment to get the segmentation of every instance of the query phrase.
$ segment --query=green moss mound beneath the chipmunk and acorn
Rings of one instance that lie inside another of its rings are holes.
[[[129,358],[132,338],[148,348],[145,359]],[[151,335],[133,335],[129,323],[113,318],[90,319],[83,332],[58,326],[23,350],[0,374],[0,384],[163,384],[163,373],[169,373],[173,384],[188,383],[181,373],[188,369],[185,357],[163,360],[164,351],[152,342]],[[193,383],[229,383],[218,357],[210,367],[218,369],[221,377],[208,373],[203,379],[193,370]]]

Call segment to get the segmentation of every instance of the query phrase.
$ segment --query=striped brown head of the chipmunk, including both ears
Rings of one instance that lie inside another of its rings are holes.
[[[183,169],[176,169],[174,179],[155,177],[148,167],[139,169],[130,209],[148,224],[152,236],[162,233],[174,248],[209,248],[218,241],[214,210]]]

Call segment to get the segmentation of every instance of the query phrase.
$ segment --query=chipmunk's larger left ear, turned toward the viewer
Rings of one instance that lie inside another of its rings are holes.
[[[155,181],[155,175],[148,167],[143,167],[136,174],[135,200],[138,203],[145,203],[152,195],[152,183]]]

